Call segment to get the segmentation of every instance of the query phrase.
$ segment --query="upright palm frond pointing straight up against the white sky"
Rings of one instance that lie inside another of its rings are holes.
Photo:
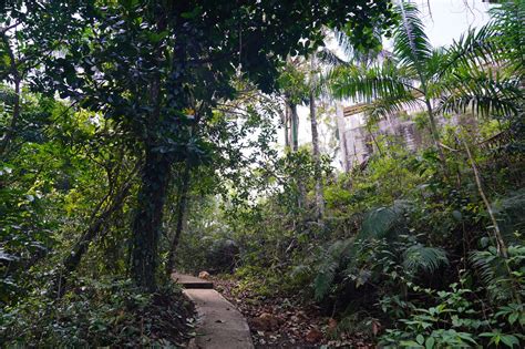
[[[401,1],[395,10],[401,21],[393,32],[394,54],[401,64],[414,66],[422,73],[426,60],[432,54],[432,45],[424,32],[418,7]]]

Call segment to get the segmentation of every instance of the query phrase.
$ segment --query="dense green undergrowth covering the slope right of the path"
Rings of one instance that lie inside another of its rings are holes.
[[[364,170],[327,174],[322,225],[309,219],[311,211],[290,211],[298,192],[284,191],[215,215],[219,229],[185,238],[182,249],[192,258],[182,266],[235,270],[239,292],[247,287],[261,297],[316,300],[338,320],[336,336],[364,331],[393,347],[518,347],[525,325],[522,153],[476,153],[508,244],[504,258],[464,153],[447,155],[454,176],[445,178],[432,152],[384,150]],[[310,203],[312,191],[308,182]]]

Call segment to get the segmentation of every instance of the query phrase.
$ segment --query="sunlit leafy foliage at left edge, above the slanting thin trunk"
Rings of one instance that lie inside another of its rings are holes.
[[[24,292],[31,279],[25,271],[63,243],[62,234],[75,234],[71,230],[85,219],[87,202],[102,196],[93,184],[104,188],[103,172],[89,157],[107,155],[97,152],[95,137],[91,153],[80,151],[94,135],[92,115],[65,113],[62,103],[39,95],[27,93],[24,100],[20,133],[11,140],[17,154],[0,162],[0,250],[11,256],[0,265],[0,298],[7,304]]]

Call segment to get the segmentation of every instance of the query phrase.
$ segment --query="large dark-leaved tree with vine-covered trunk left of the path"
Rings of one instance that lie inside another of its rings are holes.
[[[354,39],[363,41],[370,27],[390,24],[388,1],[86,2],[74,17],[83,37],[68,42],[63,58],[47,60],[40,82],[121,123],[128,131],[123,142],[144,158],[132,277],[150,290],[171,167],[186,158],[189,101],[206,101],[209,117],[214,103],[235,96],[231,78],[239,72],[272,91],[284,58],[320,44],[323,23],[351,18]]]

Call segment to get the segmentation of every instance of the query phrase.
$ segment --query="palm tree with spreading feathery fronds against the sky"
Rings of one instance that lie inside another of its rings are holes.
[[[363,111],[374,119],[406,106],[423,107],[445,170],[436,115],[467,107],[477,114],[515,112],[522,93],[513,76],[491,68],[497,48],[483,43],[494,27],[470,31],[445,50],[432,48],[413,3],[401,1],[395,11],[400,22],[393,31],[392,57],[368,66],[354,63],[334,69],[331,92],[369,103]]]

